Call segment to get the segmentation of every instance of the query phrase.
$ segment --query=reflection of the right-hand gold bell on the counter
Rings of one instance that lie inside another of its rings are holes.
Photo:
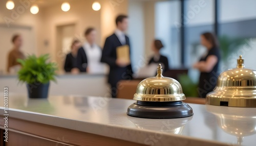
[[[255,110],[253,108],[226,108],[225,112],[217,106],[206,106],[206,109],[216,115],[218,126],[224,132],[237,137],[239,145],[243,144],[245,136],[256,133],[256,113],[248,111]],[[239,112],[234,112],[236,110]]]

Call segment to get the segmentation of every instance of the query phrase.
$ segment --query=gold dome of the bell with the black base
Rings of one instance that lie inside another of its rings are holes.
[[[148,102],[173,102],[186,98],[177,80],[162,76],[162,66],[159,64],[157,76],[141,81],[133,99]]]

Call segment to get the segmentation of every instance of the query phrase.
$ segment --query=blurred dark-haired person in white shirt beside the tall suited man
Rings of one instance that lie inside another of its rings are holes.
[[[81,72],[103,74],[105,67],[100,62],[102,50],[96,44],[97,32],[94,28],[88,28],[84,36],[87,41],[78,50],[77,66]]]

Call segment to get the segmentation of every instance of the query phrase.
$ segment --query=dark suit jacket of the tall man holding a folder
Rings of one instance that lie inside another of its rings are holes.
[[[130,41],[127,36],[125,36],[126,44],[130,47]],[[131,80],[132,79],[132,66],[131,64],[125,67],[119,67],[116,64],[116,48],[121,46],[121,42],[119,41],[118,37],[113,34],[106,38],[105,44],[102,51],[101,62],[107,63],[110,66],[109,72],[109,80],[108,82],[112,86],[116,86],[117,82],[120,80]],[[131,51],[131,47],[130,47]],[[131,53],[130,53],[131,54]]]

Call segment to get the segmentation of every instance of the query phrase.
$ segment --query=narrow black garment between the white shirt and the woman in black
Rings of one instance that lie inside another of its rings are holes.
[[[77,52],[77,68],[79,68],[81,72],[86,72],[87,56],[86,52],[84,52],[83,47],[80,47]]]

